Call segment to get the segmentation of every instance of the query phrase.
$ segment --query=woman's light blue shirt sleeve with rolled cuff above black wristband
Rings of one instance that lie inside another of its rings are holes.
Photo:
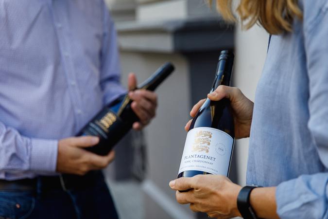
[[[312,2],[312,1],[311,1]],[[308,2],[310,3],[310,2]],[[328,3],[304,20],[309,77],[308,128],[322,164],[328,168]],[[320,11],[318,13],[318,11]],[[309,25],[308,25],[309,24]],[[328,172],[303,175],[277,186],[277,213],[283,219],[328,218]]]

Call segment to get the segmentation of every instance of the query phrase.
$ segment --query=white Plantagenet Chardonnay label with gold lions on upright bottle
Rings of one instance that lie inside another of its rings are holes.
[[[233,138],[215,128],[193,128],[187,134],[179,174],[198,170],[227,176]]]

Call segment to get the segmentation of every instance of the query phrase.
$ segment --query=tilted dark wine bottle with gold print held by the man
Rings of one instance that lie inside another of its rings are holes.
[[[172,72],[174,66],[168,62],[161,66],[151,77],[144,81],[138,89],[155,91]],[[132,128],[134,122],[139,121],[138,116],[131,108],[132,100],[127,93],[104,107],[77,136],[92,135],[100,138],[96,146],[86,150],[98,155],[106,155],[121,138]]]

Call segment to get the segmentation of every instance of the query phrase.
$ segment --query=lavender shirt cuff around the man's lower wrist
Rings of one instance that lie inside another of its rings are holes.
[[[39,172],[55,172],[57,155],[57,140],[32,139],[30,169]]]

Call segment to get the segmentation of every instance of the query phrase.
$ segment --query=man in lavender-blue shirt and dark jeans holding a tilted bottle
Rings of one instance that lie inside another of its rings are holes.
[[[72,136],[124,92],[103,0],[0,0],[0,218],[118,218],[97,171],[114,153],[87,152],[99,139]],[[156,95],[130,97],[140,129]]]

